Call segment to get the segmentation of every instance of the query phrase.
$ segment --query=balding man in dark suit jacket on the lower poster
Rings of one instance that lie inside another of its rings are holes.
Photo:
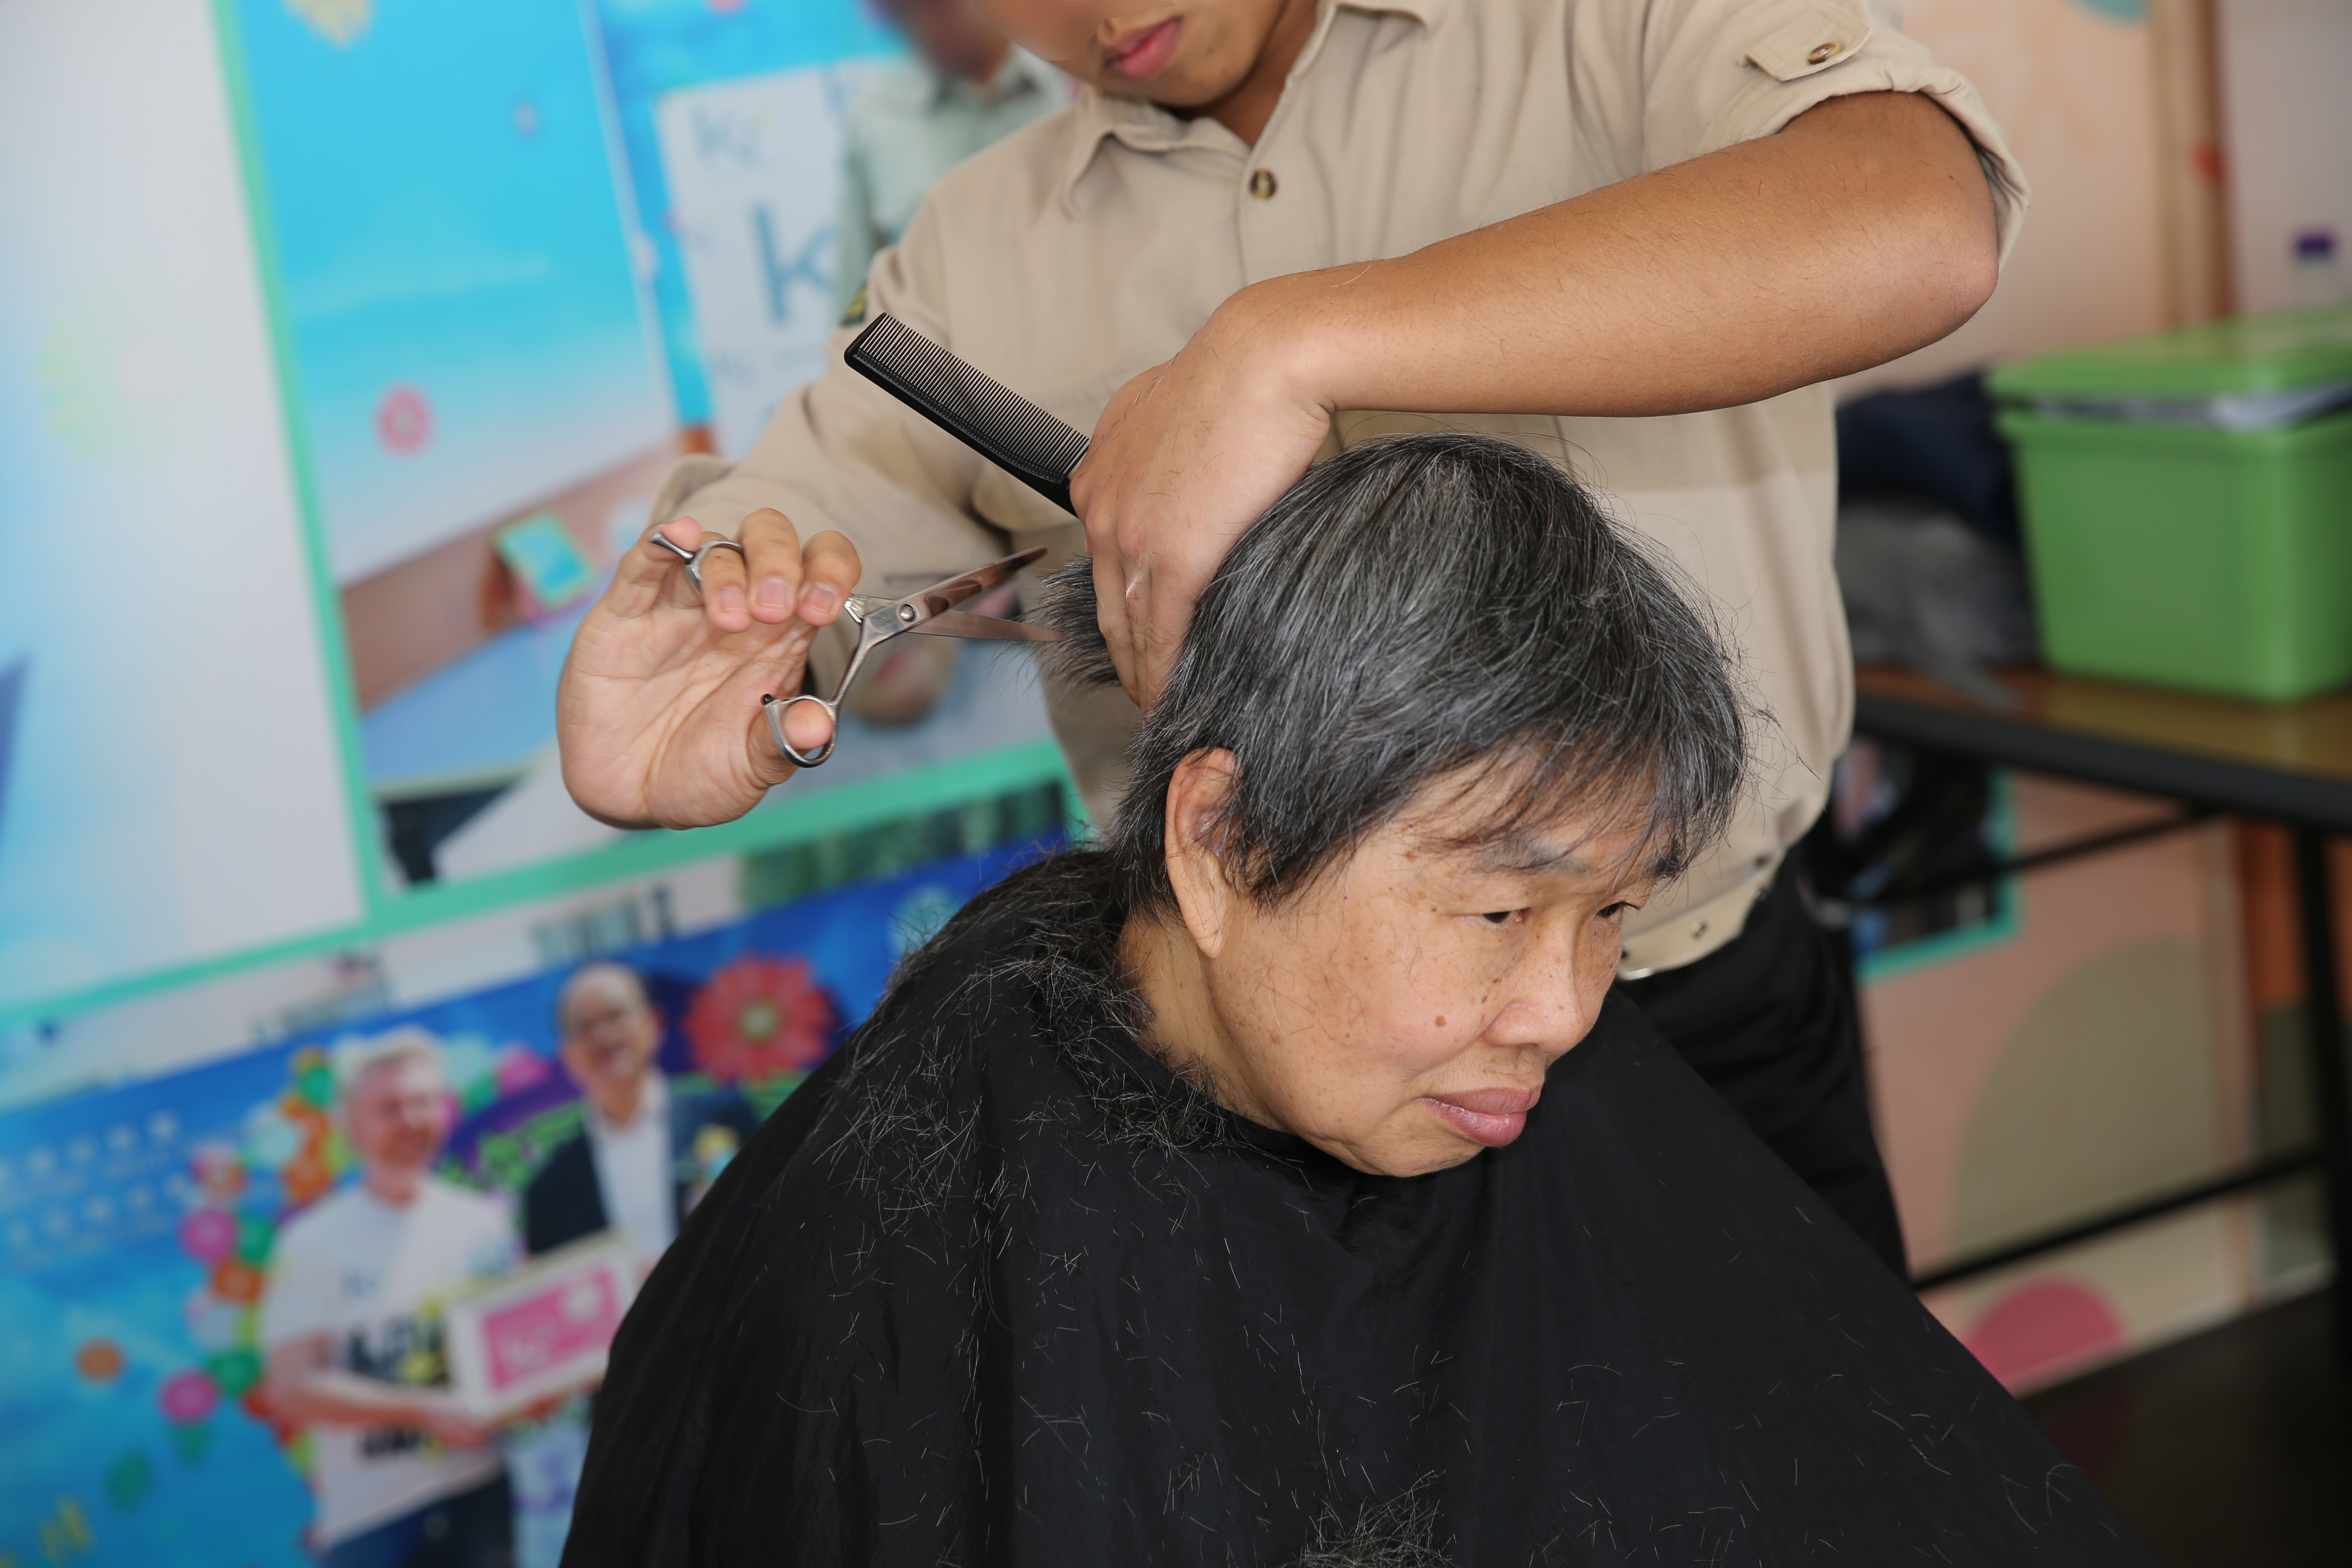
[[[760,1126],[731,1088],[680,1093],[654,1065],[661,1013],[626,964],[588,964],[555,1001],[557,1051],[586,1126],[522,1192],[524,1248],[619,1229],[644,1267]]]

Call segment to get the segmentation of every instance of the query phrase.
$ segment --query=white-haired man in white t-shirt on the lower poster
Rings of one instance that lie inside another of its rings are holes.
[[[430,1175],[454,1114],[433,1034],[346,1046],[336,1081],[360,1180],[280,1232],[261,1298],[266,1399],[310,1429],[310,1544],[327,1568],[506,1568],[506,1460],[447,1389],[435,1307],[515,1260],[513,1225]]]

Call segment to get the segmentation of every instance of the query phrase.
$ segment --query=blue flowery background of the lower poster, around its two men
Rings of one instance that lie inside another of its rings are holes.
[[[612,954],[663,1018],[673,1084],[771,1105],[880,999],[906,947],[1023,853],[1000,846]],[[273,1239],[350,1180],[334,1051],[421,1027],[459,1119],[437,1171],[510,1197],[579,1131],[550,971],[0,1114],[0,1563],[296,1568],[310,1441],[261,1396]],[[564,1462],[569,1458],[569,1462]],[[508,1441],[517,1544],[553,1563],[576,1443]]]

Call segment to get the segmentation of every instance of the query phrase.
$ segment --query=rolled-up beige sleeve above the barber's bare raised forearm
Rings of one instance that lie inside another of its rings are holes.
[[[1771,136],[1846,94],[1919,92],[1976,141],[2002,261],[2025,221],[2025,169],[1985,101],[1905,38],[1882,0],[1588,2],[1576,9],[1571,75],[1581,129],[1613,148],[1621,176]]]

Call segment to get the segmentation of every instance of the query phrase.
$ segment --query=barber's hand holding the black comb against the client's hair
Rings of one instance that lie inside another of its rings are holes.
[[[1167,364],[1122,386],[1070,498],[1120,684],[1160,698],[1192,602],[1225,552],[1315,463],[1331,411],[1242,320],[1237,296]]]

